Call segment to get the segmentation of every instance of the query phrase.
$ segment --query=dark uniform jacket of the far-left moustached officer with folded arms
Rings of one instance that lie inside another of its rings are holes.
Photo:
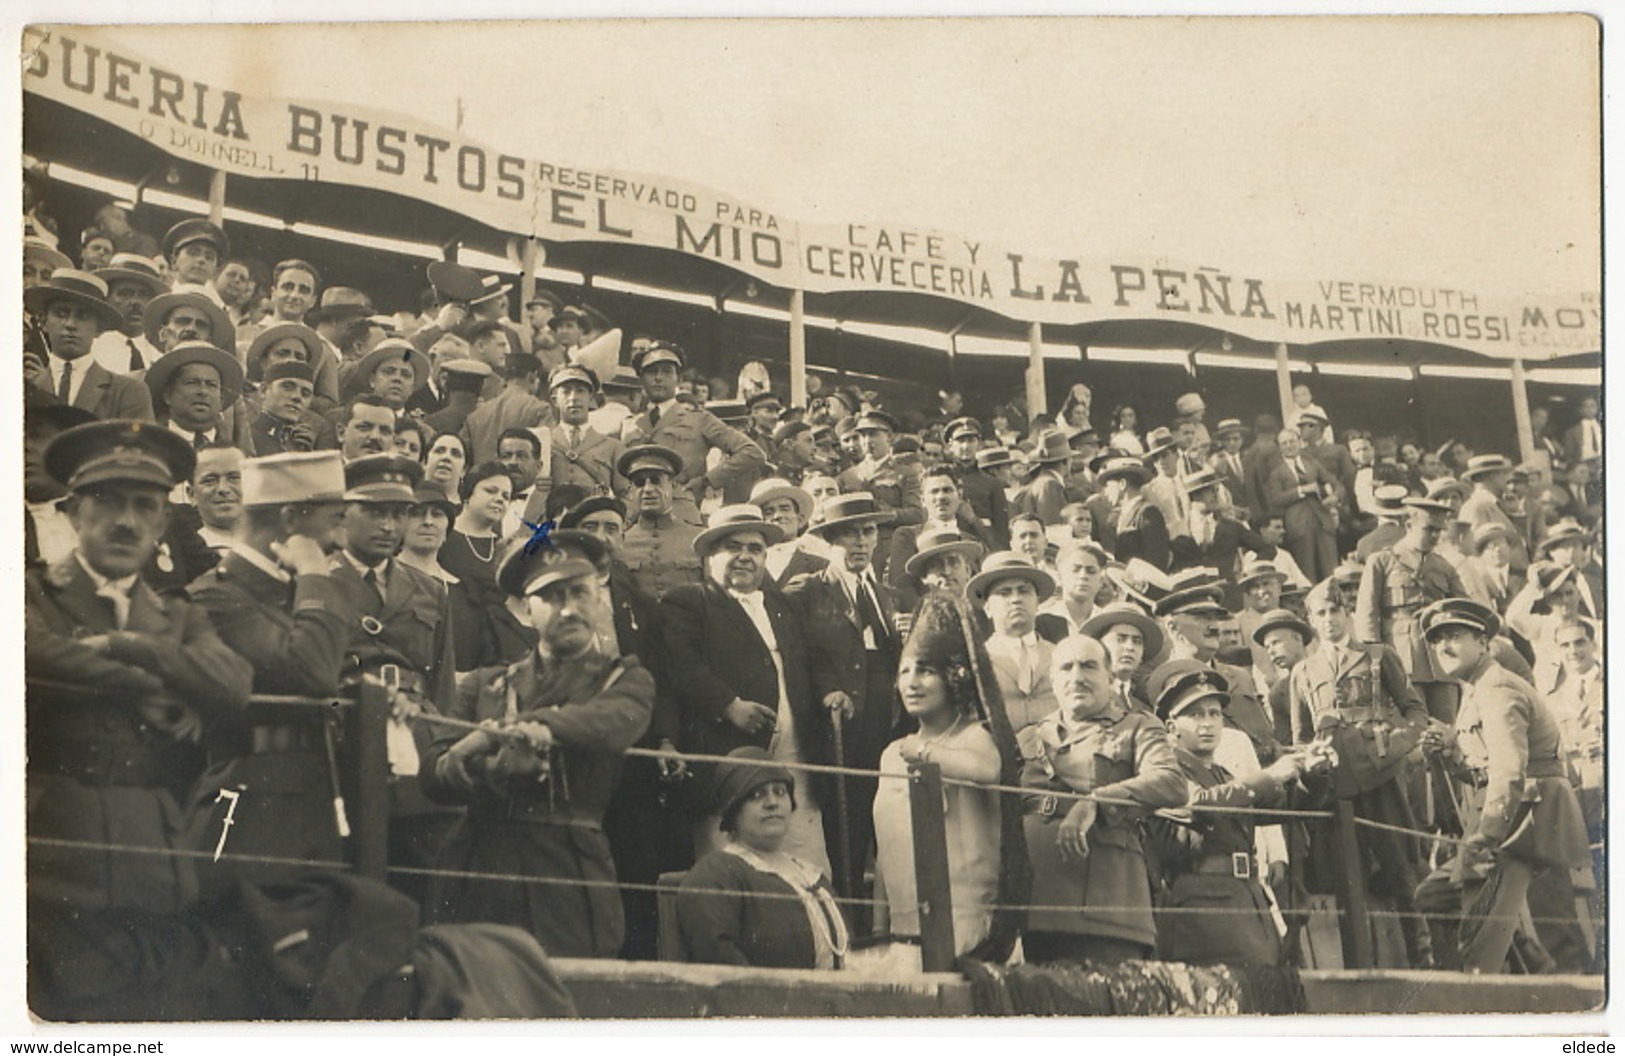
[[[140,580],[119,630],[112,603],[73,554],[28,572],[23,612],[26,674],[54,682],[28,689],[28,835],[179,846],[177,796],[202,767],[180,723],[239,712],[247,661],[203,609]],[[93,635],[109,635],[109,647],[81,643]],[[31,897],[81,910],[167,913],[197,897],[187,858],[34,846],[28,869]]]

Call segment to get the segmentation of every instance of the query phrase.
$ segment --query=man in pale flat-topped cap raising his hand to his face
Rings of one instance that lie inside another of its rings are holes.
[[[361,616],[332,575],[344,518],[338,452],[294,452],[242,465],[242,530],[231,551],[192,583],[192,599],[254,664],[260,694],[332,697]],[[325,708],[323,708],[325,712]],[[250,710],[210,738],[211,767],[197,785],[200,850],[224,830],[245,855],[336,863],[343,856],[327,754],[327,716],[294,705]],[[245,786],[232,825],[221,788]],[[281,866],[240,863],[257,879]],[[223,874],[224,879],[224,874]]]

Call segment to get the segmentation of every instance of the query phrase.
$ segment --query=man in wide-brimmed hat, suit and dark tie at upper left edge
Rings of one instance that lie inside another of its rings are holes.
[[[23,291],[23,305],[39,320],[50,351],[46,362],[24,357],[24,377],[63,403],[102,419],[153,421],[153,400],[133,377],[112,374],[91,356],[104,330],[117,330],[124,315],[107,302],[107,283],[89,271],[58,268]]]

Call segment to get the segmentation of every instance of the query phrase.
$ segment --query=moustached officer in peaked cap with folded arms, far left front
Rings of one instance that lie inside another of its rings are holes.
[[[198,733],[242,708],[249,664],[203,611],[140,578],[169,520],[164,496],[192,463],[179,437],[128,421],[76,426],[44,453],[76,541],[24,578],[28,835],[158,853],[31,846],[41,905],[172,913],[197,897],[193,861],[162,851],[180,846]],[[49,931],[29,928],[29,941],[49,944]]]

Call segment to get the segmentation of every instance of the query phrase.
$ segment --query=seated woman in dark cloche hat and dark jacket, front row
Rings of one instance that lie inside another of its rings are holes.
[[[782,848],[795,780],[765,749],[736,747],[715,803],[726,835],[678,892],[682,960],[757,968],[842,968],[847,923],[829,877]]]

